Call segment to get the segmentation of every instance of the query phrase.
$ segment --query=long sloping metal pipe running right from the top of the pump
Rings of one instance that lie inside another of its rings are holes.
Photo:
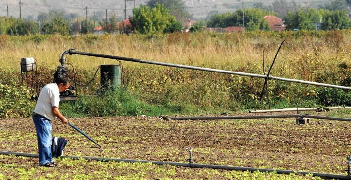
[[[93,56],[93,57],[102,57],[102,58],[115,59],[115,60],[123,60],[123,61],[139,62],[139,63],[146,63],[146,64],[155,64],[155,65],[161,65],[161,66],[169,66],[169,67],[175,67],[175,68],[184,68],[184,69],[200,70],[200,71],[208,71],[208,72],[219,72],[219,73],[225,73],[225,74],[242,75],[242,76],[256,77],[256,78],[263,78],[263,79],[266,78],[265,75],[260,75],[260,74],[252,74],[252,73],[246,73],[246,72],[235,72],[235,71],[227,71],[227,70],[218,70],[218,69],[212,69],[212,68],[202,68],[202,67],[196,67],[196,66],[188,66],[188,65],[156,62],[156,61],[141,60],[141,59],[120,57],[120,56],[113,56],[113,55],[105,55],[105,54],[94,54],[94,53],[74,51],[72,49],[67,50],[67,51],[65,51],[62,54],[61,59],[60,59],[61,64],[64,64],[64,62],[66,60],[66,58],[65,58],[66,54],[70,54],[70,55],[71,54],[79,54],[79,55],[87,55],[87,56]],[[315,85],[315,86],[324,86],[324,87],[330,87],[330,88],[338,88],[338,89],[344,89],[344,90],[351,90],[351,87],[346,87],[346,86],[338,86],[338,85],[317,83],[317,82],[304,81],[304,80],[298,80],[298,79],[289,79],[289,78],[283,78],[283,77],[269,76],[268,79],[279,80],[279,81],[287,81],[287,82],[294,82],[294,83],[302,83],[302,84],[309,84],[309,85]]]

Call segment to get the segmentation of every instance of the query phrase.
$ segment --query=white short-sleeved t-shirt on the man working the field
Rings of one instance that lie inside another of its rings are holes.
[[[57,107],[60,103],[60,91],[56,83],[47,84],[41,89],[38,101],[33,112],[44,116],[49,120],[55,120],[51,108]]]

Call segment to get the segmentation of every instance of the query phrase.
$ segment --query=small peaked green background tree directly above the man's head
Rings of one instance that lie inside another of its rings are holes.
[[[51,22],[47,22],[43,25],[42,31],[44,34],[55,34],[68,35],[69,27],[68,22],[63,18],[61,13],[56,14]]]

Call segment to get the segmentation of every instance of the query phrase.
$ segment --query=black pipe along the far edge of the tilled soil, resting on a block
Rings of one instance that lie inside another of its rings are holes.
[[[333,121],[351,121],[349,118],[337,118],[337,117],[326,117],[326,116],[313,116],[313,115],[265,115],[265,116],[208,116],[208,117],[169,117],[173,120],[221,120],[221,119],[273,119],[273,118],[311,118],[311,119],[326,119]]]

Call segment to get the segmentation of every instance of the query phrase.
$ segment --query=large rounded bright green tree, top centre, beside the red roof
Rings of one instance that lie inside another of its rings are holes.
[[[131,24],[134,30],[141,34],[166,33],[174,23],[175,17],[161,4],[156,4],[152,9],[149,6],[133,9]]]

